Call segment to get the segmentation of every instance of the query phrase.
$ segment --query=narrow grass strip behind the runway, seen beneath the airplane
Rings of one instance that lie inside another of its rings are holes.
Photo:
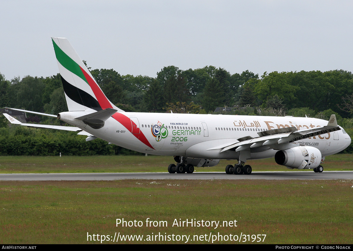
[[[324,170],[353,170],[353,154],[327,156]],[[166,172],[172,156],[1,156],[0,173],[115,173]],[[234,160],[221,160],[215,167],[195,171],[224,171]],[[273,158],[249,160],[253,171],[292,171],[277,165]],[[294,169],[295,171],[296,169]],[[311,171],[311,170],[310,170]]]

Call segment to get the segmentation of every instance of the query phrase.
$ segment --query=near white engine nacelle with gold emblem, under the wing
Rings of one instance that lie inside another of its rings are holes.
[[[296,146],[275,154],[276,163],[288,168],[313,169],[320,165],[322,154],[312,146]]]

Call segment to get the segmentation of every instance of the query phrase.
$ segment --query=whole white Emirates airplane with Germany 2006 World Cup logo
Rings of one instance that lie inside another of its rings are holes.
[[[79,131],[134,151],[174,156],[169,173],[193,173],[195,167],[213,167],[220,159],[236,160],[227,174],[251,174],[247,160],[275,158],[289,169],[323,171],[325,156],[351,144],[351,138],[337,124],[308,117],[201,115],[179,113],[125,112],[110,102],[66,38],[52,37],[68,106],[57,117],[73,127],[25,124],[8,114],[15,124]]]

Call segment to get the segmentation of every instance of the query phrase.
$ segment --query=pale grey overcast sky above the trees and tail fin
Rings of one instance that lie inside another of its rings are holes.
[[[353,66],[353,1],[0,1],[0,73],[59,72],[51,36],[92,69],[148,75],[164,66],[310,71]]]

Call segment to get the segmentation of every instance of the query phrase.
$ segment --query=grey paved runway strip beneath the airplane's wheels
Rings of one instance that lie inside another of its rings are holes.
[[[196,172],[193,174],[169,173],[69,173],[69,174],[0,174],[0,181],[43,180],[353,180],[353,171],[269,171],[252,172],[251,175],[225,174],[224,172]]]

